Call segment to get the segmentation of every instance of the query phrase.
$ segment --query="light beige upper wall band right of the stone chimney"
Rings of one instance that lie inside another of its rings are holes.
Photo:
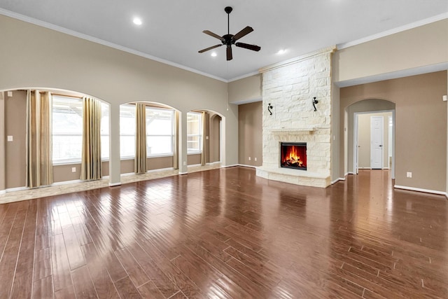
[[[447,64],[448,19],[338,50],[335,82]],[[446,69],[446,67],[445,67]]]

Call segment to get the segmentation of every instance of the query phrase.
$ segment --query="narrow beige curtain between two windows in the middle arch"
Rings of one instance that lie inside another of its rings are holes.
[[[135,104],[135,160],[134,172],[146,173],[146,105]]]

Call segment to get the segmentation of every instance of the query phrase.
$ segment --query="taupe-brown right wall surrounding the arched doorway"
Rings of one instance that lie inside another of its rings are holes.
[[[349,106],[363,99],[386,99],[395,103],[395,185],[444,192],[447,102],[442,102],[442,96],[446,92],[447,71],[341,88],[339,117],[349,110],[349,171],[353,171],[353,106]],[[344,135],[344,128],[339,135]],[[344,166],[343,153],[339,147],[339,167]],[[412,172],[412,178],[406,172]]]

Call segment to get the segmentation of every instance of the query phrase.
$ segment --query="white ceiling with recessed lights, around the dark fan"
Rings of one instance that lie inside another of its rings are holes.
[[[197,53],[219,43],[203,30],[230,34],[260,52],[233,46]],[[314,50],[447,18],[447,0],[0,0],[0,13],[174,64],[223,81]],[[134,16],[143,25],[132,23]],[[283,55],[277,54],[286,49]]]

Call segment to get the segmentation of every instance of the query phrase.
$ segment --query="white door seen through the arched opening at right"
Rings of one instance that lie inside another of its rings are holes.
[[[383,169],[383,116],[370,117],[370,168]]]

